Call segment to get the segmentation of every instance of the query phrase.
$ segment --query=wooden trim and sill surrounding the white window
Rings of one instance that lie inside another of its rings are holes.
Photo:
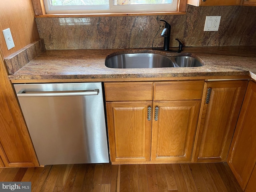
[[[35,12],[35,17],[40,18],[40,17],[84,17],[84,16],[140,16],[140,15],[168,15],[168,14],[186,14],[186,7],[187,3],[186,0],[177,0],[177,10],[176,11],[136,11],[136,12],[102,12],[102,13],[56,13],[56,14],[51,14],[51,13],[46,13],[45,7],[44,7],[44,0],[32,0],[33,6],[34,6],[34,12]]]

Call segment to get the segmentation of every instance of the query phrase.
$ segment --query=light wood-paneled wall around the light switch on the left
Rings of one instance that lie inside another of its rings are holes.
[[[8,50],[2,30],[10,28],[15,47]],[[39,39],[32,0],[0,0],[0,49],[4,58]]]

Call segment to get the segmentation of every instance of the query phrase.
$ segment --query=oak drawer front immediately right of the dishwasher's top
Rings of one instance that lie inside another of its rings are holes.
[[[106,82],[106,101],[146,101],[153,99],[153,82]]]

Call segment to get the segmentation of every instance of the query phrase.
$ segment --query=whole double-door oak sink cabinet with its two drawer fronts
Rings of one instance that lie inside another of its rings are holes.
[[[204,80],[104,85],[113,164],[191,161]]]

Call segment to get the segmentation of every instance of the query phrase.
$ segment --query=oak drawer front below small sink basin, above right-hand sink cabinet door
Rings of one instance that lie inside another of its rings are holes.
[[[154,84],[154,100],[200,100],[204,80],[168,81]]]

